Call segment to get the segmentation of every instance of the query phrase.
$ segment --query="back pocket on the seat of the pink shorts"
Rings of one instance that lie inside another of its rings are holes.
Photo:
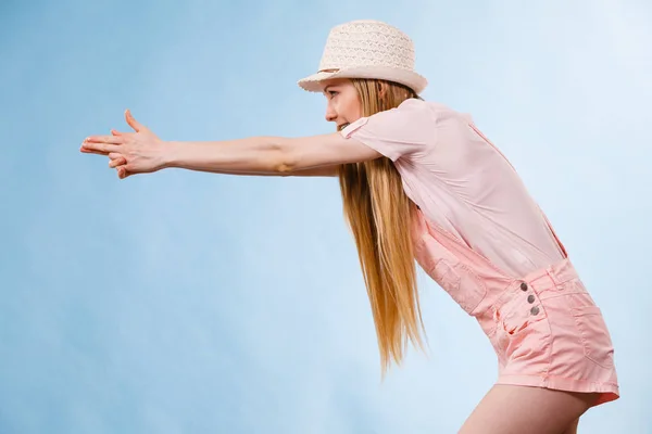
[[[573,316],[581,336],[585,357],[602,368],[613,368],[614,347],[602,310],[595,305],[574,307]]]

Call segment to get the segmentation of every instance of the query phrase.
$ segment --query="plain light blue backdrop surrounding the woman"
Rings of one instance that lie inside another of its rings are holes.
[[[296,81],[358,18],[414,39],[424,97],[511,158],[602,306],[623,397],[582,432],[652,432],[649,3],[62,0],[0,5],[0,433],[463,423],[488,341],[422,279],[429,356],[379,383],[336,179],[120,181],[78,152],[127,107],[168,140],[333,131]]]

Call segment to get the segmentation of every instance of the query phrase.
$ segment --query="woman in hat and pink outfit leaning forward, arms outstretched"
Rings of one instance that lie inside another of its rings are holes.
[[[515,170],[473,120],[418,94],[411,39],[356,21],[331,29],[319,72],[299,81],[327,99],[337,132],[166,142],[89,137],[124,179],[179,167],[231,175],[338,176],[376,324],[384,372],[421,344],[415,260],[480,324],[497,384],[461,433],[575,433],[590,407],[618,397],[600,309]]]

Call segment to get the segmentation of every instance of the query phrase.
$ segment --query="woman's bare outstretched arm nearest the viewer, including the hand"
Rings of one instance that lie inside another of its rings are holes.
[[[166,142],[140,125],[129,111],[127,123],[136,132],[93,136],[82,152],[109,155],[112,167],[125,178],[166,167],[233,175],[301,176],[323,174],[347,163],[375,159],[372,148],[339,132],[304,137],[252,137],[211,142]]]

